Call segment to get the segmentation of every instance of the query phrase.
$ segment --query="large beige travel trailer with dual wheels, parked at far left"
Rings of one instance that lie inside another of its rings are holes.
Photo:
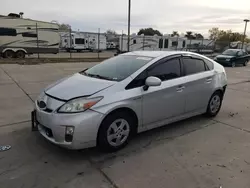
[[[0,16],[0,54],[24,58],[25,54],[59,52],[59,26],[55,23]]]

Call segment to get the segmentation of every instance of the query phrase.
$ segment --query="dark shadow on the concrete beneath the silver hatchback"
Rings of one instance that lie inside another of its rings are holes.
[[[68,164],[76,164],[78,162],[89,161],[94,165],[102,166],[112,163],[114,160],[123,160],[124,157],[134,155],[138,152],[145,152],[152,147],[167,144],[172,140],[200,130],[214,124],[212,119],[205,116],[192,117],[177,123],[152,129],[137,134],[130,143],[123,149],[113,153],[104,153],[98,148],[90,148],[83,150],[68,150],[56,146],[44,139],[38,132],[28,132],[25,143],[21,144],[19,149],[28,150],[33,157],[46,162],[66,162]],[[23,148],[22,148],[23,147]]]

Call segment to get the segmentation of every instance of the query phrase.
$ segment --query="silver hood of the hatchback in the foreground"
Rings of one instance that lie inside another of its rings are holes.
[[[62,100],[69,100],[93,95],[114,84],[114,81],[91,78],[77,73],[53,83],[45,89],[45,93]]]

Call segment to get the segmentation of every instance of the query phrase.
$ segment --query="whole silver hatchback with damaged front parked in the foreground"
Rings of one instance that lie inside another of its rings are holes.
[[[50,85],[35,101],[33,124],[68,148],[114,151],[136,133],[199,114],[216,116],[224,68],[190,52],[130,52]]]

